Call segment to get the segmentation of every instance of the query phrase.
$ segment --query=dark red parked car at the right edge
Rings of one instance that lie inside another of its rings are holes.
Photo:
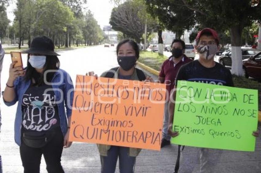
[[[261,52],[243,60],[243,72],[246,78],[261,80]]]

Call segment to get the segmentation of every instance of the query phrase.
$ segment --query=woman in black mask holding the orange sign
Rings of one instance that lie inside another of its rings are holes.
[[[101,77],[153,82],[151,77],[146,77],[142,70],[135,68],[136,61],[139,58],[137,43],[133,40],[123,40],[117,45],[116,53],[119,67],[104,72]],[[89,72],[89,75],[94,75],[94,73]],[[95,77],[97,78],[97,75]],[[118,157],[120,172],[134,172],[136,157],[141,149],[104,144],[97,145],[101,159],[101,173],[114,173]]]

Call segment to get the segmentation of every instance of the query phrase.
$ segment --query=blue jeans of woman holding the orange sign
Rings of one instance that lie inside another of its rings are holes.
[[[120,173],[133,173],[136,157],[130,157],[128,153],[128,147],[111,146],[108,156],[100,156],[101,173],[114,173],[118,156]]]

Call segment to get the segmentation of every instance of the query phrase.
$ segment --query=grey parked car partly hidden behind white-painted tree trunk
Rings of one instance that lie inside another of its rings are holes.
[[[242,60],[249,58],[250,56],[254,56],[255,54],[261,52],[261,50],[258,49],[252,49],[252,48],[241,48],[242,51]],[[232,51],[229,51],[225,55],[221,55],[219,58],[219,63],[231,67],[232,66]]]

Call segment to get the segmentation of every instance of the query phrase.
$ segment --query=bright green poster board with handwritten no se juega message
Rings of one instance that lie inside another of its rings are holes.
[[[258,91],[178,81],[173,144],[255,151]]]

